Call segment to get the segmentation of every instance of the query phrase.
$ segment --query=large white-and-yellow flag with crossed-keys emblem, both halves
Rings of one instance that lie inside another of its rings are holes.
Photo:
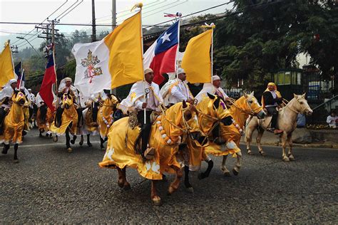
[[[77,43],[74,85],[85,97],[143,80],[140,12],[131,16],[101,41]]]

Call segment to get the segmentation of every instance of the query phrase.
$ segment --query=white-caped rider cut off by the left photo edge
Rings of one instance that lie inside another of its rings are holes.
[[[6,116],[6,112],[11,108],[11,97],[13,96],[14,90],[16,90],[16,86],[18,85],[18,81],[16,79],[9,80],[9,83],[6,84],[3,90],[0,92],[0,135],[3,133],[2,124],[4,122],[4,118]]]

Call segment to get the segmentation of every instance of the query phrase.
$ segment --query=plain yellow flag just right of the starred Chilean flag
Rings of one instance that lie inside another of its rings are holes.
[[[190,83],[211,82],[211,43],[212,29],[189,40],[182,59],[182,68]]]

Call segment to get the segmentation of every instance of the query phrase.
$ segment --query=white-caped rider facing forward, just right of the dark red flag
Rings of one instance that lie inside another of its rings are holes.
[[[61,108],[61,102],[62,102],[62,96],[63,94],[68,93],[69,91],[69,95],[71,95],[71,97],[73,98],[73,103],[76,106],[76,111],[78,112],[78,121],[80,121],[81,119],[81,108],[79,107],[78,104],[76,104],[78,102],[78,91],[76,90],[76,88],[71,85],[71,78],[63,78],[60,82],[60,85],[58,87],[58,98],[60,98],[59,100],[59,104],[58,108],[56,109],[56,127],[60,127],[61,126],[61,117],[62,117],[62,113],[63,113],[63,108]],[[80,123],[78,122],[78,126],[80,126]]]

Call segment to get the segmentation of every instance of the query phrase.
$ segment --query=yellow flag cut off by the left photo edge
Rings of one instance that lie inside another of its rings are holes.
[[[11,79],[15,79],[13,61],[11,58],[11,47],[6,43],[4,51],[0,53],[0,88]]]

